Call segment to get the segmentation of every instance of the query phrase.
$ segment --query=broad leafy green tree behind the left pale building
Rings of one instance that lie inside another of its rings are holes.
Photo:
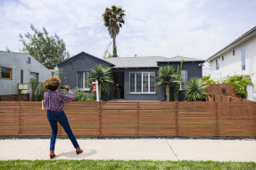
[[[29,32],[24,36],[20,34],[23,53],[29,53],[47,69],[54,69],[57,63],[70,57],[70,53],[66,50],[66,45],[60,36],[56,34],[49,36],[45,27],[43,31],[40,31],[31,24],[30,28],[33,31],[32,34]]]

